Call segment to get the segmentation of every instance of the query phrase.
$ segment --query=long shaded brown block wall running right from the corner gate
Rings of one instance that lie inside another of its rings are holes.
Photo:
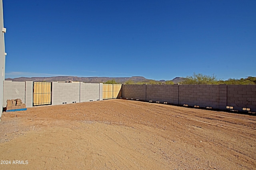
[[[256,111],[256,85],[124,84],[122,97],[215,109],[232,106],[239,111],[244,107]]]

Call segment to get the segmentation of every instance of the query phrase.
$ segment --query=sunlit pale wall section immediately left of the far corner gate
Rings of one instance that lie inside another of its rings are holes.
[[[102,100],[102,83],[80,82],[80,102]]]

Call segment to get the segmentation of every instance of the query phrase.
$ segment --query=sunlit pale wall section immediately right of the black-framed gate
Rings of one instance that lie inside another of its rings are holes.
[[[80,83],[52,82],[52,105],[80,102]]]

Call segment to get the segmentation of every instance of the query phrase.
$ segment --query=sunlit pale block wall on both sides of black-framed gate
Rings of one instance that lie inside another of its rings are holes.
[[[33,82],[3,82],[3,107],[6,100],[21,99],[26,107],[33,106]],[[58,83],[52,82],[52,105],[102,100],[102,83]],[[2,113],[2,112],[1,112]]]

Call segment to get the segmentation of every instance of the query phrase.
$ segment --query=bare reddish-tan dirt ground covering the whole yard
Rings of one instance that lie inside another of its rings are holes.
[[[0,161],[1,170],[255,170],[256,116],[122,99],[37,106],[3,112]]]

